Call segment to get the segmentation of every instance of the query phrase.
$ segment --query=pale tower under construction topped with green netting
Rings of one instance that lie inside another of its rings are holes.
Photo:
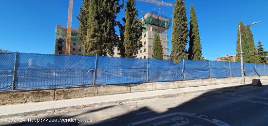
[[[163,17],[156,12],[144,14],[142,23],[145,30],[142,32],[142,48],[138,50],[137,58],[146,59],[153,56],[153,37],[154,32],[157,32],[160,37],[161,45],[163,48],[163,59],[169,59],[169,40],[167,39],[167,29],[171,26],[171,18]]]

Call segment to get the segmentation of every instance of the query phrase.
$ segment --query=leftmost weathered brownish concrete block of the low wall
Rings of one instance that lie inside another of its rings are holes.
[[[55,90],[0,92],[0,105],[52,101]]]

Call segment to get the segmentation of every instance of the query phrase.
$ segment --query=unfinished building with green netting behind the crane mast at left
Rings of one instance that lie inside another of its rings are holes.
[[[71,32],[71,44],[70,44],[70,54],[71,55],[83,55],[83,48],[79,48],[79,41],[77,38],[78,31],[72,29]],[[65,54],[66,48],[66,34],[67,27],[60,25],[56,26],[55,30],[55,54]]]

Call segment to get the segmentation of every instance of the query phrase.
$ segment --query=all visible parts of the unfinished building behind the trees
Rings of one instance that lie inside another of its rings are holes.
[[[144,14],[141,20],[142,20],[145,30],[143,30],[141,40],[140,40],[142,41],[142,48],[138,50],[138,54],[136,58],[140,58],[140,59],[152,58],[153,37],[154,37],[154,32],[157,32],[159,34],[161,45],[163,48],[163,59],[170,59],[169,54],[168,54],[169,40],[167,39],[168,37],[167,29],[169,29],[171,25],[171,18],[163,17],[155,12],[152,12],[152,13]],[[57,25],[55,32],[56,32],[55,54],[65,54],[67,27]],[[83,54],[83,48],[79,48],[79,41],[77,38],[77,33],[78,33],[77,30],[72,29],[71,44],[70,44],[71,45],[70,54],[72,55]],[[119,50],[117,47],[114,47],[114,57],[120,57]]]

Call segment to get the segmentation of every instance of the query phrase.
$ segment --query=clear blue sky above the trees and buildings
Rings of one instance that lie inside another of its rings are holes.
[[[163,0],[174,3],[175,0]],[[82,0],[74,0],[72,27],[77,29],[79,8]],[[164,16],[172,17],[172,7],[136,2],[139,18],[142,12],[161,8]],[[202,55],[215,60],[218,56],[235,54],[237,24],[255,21],[251,26],[255,45],[262,41],[268,50],[268,1],[267,0],[186,0],[187,17],[190,20],[190,5],[193,4],[198,19]],[[0,0],[1,49],[13,52],[54,54],[55,27],[67,25],[68,0]],[[118,19],[124,16],[124,9]],[[116,28],[117,29],[117,28]],[[168,30],[171,40],[171,30]],[[170,42],[171,44],[171,42]],[[188,46],[187,46],[188,48]]]

